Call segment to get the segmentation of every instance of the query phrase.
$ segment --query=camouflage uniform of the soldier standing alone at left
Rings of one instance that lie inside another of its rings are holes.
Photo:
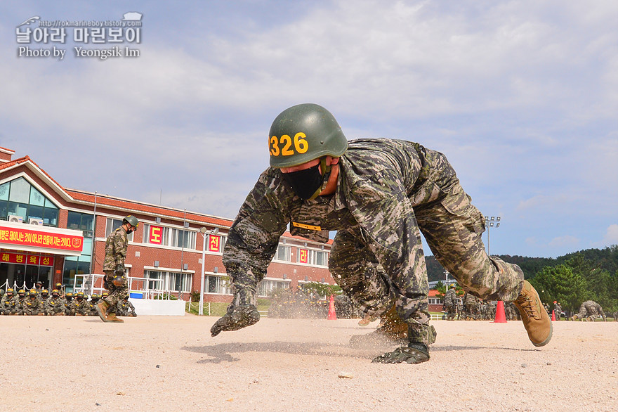
[[[118,266],[124,267],[124,259],[126,259],[126,249],[129,246],[129,240],[126,236],[126,230],[120,226],[115,231],[107,236],[105,241],[105,260],[103,261],[103,272],[105,273],[105,288],[110,291],[110,295],[105,297],[105,302],[110,308],[116,307],[116,304],[129,293],[129,286],[126,284],[126,275],[124,285],[117,286],[112,283],[114,271]],[[108,309],[112,311],[113,309]]]

